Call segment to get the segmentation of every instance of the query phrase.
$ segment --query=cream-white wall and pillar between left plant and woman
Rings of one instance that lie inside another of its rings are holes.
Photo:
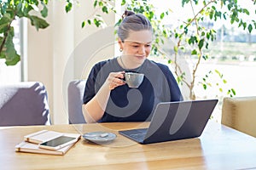
[[[87,77],[97,61],[113,57],[114,37],[109,34],[113,32],[112,27],[107,31],[99,31],[96,26],[81,28],[82,21],[94,11],[92,0],[81,1],[68,14],[63,2],[49,1],[50,26],[36,31],[28,23],[27,81],[44,83],[54,124],[68,122],[68,82]],[[114,25],[113,14],[104,19],[109,26]]]

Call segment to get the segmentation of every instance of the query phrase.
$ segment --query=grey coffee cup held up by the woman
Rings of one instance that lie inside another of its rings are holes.
[[[143,78],[143,73],[125,72],[125,82],[129,88],[138,88],[143,82]]]

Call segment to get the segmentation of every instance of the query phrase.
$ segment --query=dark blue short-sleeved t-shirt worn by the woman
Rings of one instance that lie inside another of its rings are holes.
[[[124,69],[116,58],[94,65],[84,89],[84,104],[96,95],[109,73],[117,71]],[[140,87],[129,88],[125,84],[114,88],[99,122],[150,121],[158,103],[183,100],[177,82],[166,65],[146,59],[139,72],[144,74]]]

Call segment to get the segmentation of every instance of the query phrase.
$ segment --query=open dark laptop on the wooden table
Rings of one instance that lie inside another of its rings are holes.
[[[218,99],[162,102],[148,128],[119,131],[140,144],[152,144],[201,136]]]

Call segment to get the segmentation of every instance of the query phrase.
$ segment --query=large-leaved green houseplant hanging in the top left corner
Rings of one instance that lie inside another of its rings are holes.
[[[13,42],[15,31],[12,22],[25,17],[37,30],[46,28],[49,24],[43,18],[48,14],[47,3],[48,0],[7,0],[0,3],[0,59],[5,59],[6,65],[16,65],[20,61]],[[37,12],[38,8],[41,8],[39,12],[43,18],[30,14]]]

